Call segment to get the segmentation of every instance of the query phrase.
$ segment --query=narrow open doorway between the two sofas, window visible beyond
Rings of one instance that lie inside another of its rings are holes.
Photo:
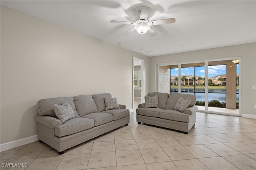
[[[144,103],[144,59],[133,57],[132,68],[132,104],[133,110],[136,110],[138,104]]]

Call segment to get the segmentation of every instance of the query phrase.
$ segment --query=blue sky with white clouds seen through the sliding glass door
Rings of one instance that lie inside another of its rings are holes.
[[[239,64],[236,65],[236,73],[239,71]],[[226,74],[226,65],[212,65],[208,66],[208,77],[214,77],[220,74]],[[171,76],[178,76],[178,68],[171,69]],[[194,75],[194,67],[184,67],[181,68],[181,76],[184,75]],[[200,77],[205,77],[204,66],[196,67],[196,75]]]

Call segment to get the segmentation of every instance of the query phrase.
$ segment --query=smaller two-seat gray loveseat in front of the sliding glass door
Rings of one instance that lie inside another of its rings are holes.
[[[136,109],[138,123],[171,128],[184,134],[188,134],[188,131],[195,125],[197,111],[195,95],[154,92],[148,93],[148,96],[157,96],[159,107],[145,108],[145,103],[138,105],[138,109]],[[183,97],[185,100],[191,100],[188,108],[182,112],[174,110],[180,97]]]

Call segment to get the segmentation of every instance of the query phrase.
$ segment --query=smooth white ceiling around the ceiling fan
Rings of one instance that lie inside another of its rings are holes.
[[[245,0],[1,0],[1,5],[70,28],[120,47],[157,56],[256,42],[256,1]],[[158,34],[136,31],[122,36],[141,6],[151,8],[149,20],[175,18],[174,24],[151,26]],[[153,51],[153,52],[146,52]]]

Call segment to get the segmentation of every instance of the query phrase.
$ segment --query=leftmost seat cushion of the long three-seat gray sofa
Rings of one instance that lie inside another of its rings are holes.
[[[83,130],[94,127],[94,120],[87,118],[73,118],[66,121],[63,125],[55,127],[55,136],[62,137],[69,134],[75,134]]]

